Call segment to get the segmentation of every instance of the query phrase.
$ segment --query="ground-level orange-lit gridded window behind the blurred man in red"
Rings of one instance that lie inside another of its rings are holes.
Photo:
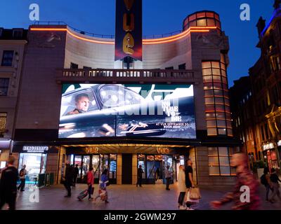
[[[235,176],[234,167],[230,167],[230,158],[233,156],[233,148],[209,147],[209,175],[210,176]]]

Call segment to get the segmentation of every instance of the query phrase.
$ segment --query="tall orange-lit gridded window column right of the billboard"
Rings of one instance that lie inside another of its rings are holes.
[[[204,97],[209,136],[233,136],[225,56],[219,62],[202,62]],[[214,116],[210,116],[214,114]]]

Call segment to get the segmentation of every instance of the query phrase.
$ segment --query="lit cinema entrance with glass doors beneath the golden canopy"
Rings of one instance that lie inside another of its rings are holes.
[[[67,162],[78,165],[77,183],[86,183],[86,173],[93,167],[95,183],[108,169],[111,184],[136,184],[137,169],[143,169],[143,183],[166,183],[165,170],[169,166],[172,183],[177,181],[179,165],[188,158],[187,146],[169,148],[153,145],[112,144],[96,146],[64,146]]]

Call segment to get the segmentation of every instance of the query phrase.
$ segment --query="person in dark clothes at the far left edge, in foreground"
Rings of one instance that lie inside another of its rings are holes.
[[[15,210],[17,197],[18,169],[14,166],[15,158],[8,158],[8,166],[1,171],[0,182],[0,210],[4,204],[8,204],[9,210]]]

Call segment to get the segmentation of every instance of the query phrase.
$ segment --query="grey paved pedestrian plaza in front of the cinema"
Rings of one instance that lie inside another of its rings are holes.
[[[110,203],[105,204],[98,199],[96,202],[89,201],[87,197],[83,202],[77,200],[81,190],[86,185],[78,184],[72,188],[72,197],[65,198],[66,190],[62,185],[41,188],[39,190],[39,202],[30,202],[32,192],[26,188],[25,192],[18,193],[17,209],[19,210],[176,210],[178,200],[177,184],[171,185],[171,190],[165,190],[162,184],[144,185],[136,188],[131,185],[111,185],[107,188]],[[263,200],[263,186],[261,186],[261,199]],[[201,188],[202,200],[195,209],[207,210],[209,202],[218,200],[228,189],[226,188]],[[98,185],[95,185],[93,197],[98,194]],[[230,209],[228,204],[222,209]],[[261,209],[281,210],[281,202],[271,204],[263,202]]]

